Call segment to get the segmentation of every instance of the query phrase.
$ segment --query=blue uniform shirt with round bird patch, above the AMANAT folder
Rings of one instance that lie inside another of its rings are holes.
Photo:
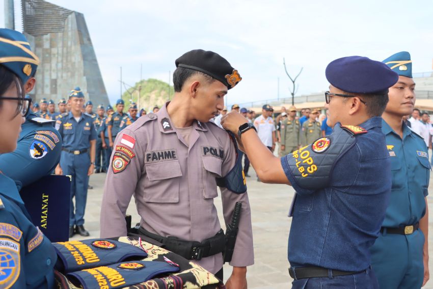
[[[18,190],[51,174],[59,163],[62,138],[52,123],[29,112],[16,150],[0,154],[0,171],[17,182]]]

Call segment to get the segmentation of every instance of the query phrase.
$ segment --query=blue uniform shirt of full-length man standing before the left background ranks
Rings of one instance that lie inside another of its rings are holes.
[[[57,120],[56,128],[63,138],[63,147],[69,150],[88,149],[90,141],[96,139],[93,118],[85,113],[81,114],[77,122],[70,112]]]

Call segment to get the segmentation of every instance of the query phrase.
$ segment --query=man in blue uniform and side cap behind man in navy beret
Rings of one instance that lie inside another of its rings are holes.
[[[409,52],[383,61],[398,73],[382,115],[391,159],[392,191],[381,234],[371,248],[371,265],[381,289],[420,288],[428,271],[428,181],[430,164],[424,140],[403,123],[415,104]]]

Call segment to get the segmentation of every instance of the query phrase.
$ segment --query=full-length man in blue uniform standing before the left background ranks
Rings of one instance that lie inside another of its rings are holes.
[[[69,238],[74,233],[87,237],[89,232],[84,228],[84,213],[89,176],[95,169],[96,129],[92,117],[81,112],[84,94],[79,87],[71,91],[68,102],[71,103],[71,112],[56,122],[56,128],[63,138],[62,155],[56,174],[72,176]]]

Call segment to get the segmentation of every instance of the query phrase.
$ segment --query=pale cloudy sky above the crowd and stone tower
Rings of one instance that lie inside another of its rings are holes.
[[[324,70],[344,56],[382,61],[407,50],[414,72],[433,70],[431,0],[50,2],[84,14],[112,102],[120,95],[120,66],[130,85],[141,64],[143,78],[168,82],[176,58],[197,48],[218,52],[242,76],[229,104],[277,98],[278,77],[280,97],[289,96],[283,57],[291,75],[304,67],[297,95],[327,90]]]

